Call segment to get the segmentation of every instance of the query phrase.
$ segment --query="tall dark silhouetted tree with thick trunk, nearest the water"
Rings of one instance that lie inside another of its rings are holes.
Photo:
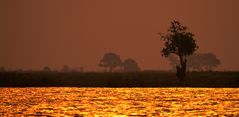
[[[172,21],[166,35],[160,34],[165,42],[161,53],[168,57],[170,54],[178,56],[180,65],[176,66],[177,77],[184,81],[186,76],[187,56],[192,55],[198,48],[194,39],[194,34],[187,31],[186,26],[182,26],[178,21]]]

